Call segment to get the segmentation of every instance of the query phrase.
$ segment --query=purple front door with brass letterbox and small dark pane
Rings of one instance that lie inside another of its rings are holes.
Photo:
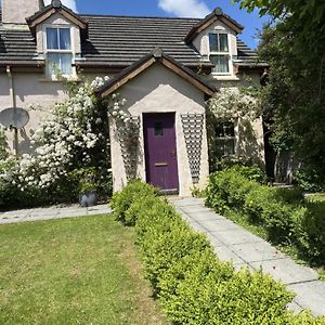
[[[143,115],[146,181],[165,191],[179,190],[174,114]]]

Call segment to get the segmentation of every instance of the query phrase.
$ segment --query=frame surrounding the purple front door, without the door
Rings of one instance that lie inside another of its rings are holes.
[[[176,112],[143,112],[142,115],[142,136],[143,136],[143,158],[144,158],[144,177],[145,177],[145,182],[148,183],[148,170],[147,170],[147,155],[146,155],[146,136],[145,136],[145,125],[144,125],[144,119],[145,116],[150,116],[150,115],[159,115],[159,114],[170,114],[173,116],[173,131],[174,131],[174,145],[176,145],[176,151],[177,151],[177,155],[176,155],[176,159],[177,159],[177,183],[178,186],[177,188],[172,188],[172,190],[160,190],[161,193],[164,194],[179,194],[180,193],[180,170],[179,170],[179,150],[178,150],[178,132],[177,132],[177,113]]]

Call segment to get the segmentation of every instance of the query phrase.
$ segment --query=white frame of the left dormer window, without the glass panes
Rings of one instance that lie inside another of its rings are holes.
[[[70,50],[54,50],[54,49],[48,49],[48,32],[47,29],[48,28],[66,28],[70,30],[70,44],[72,44],[72,49]],[[76,57],[76,51],[75,51],[75,38],[74,38],[74,32],[73,32],[73,25],[70,24],[64,24],[64,25],[51,25],[51,24],[44,24],[43,28],[42,28],[42,32],[43,32],[43,49],[44,49],[44,56],[46,56],[46,63],[47,63],[47,73],[46,75],[53,79],[56,80],[56,75],[54,74],[50,74],[50,69],[49,69],[49,60],[48,60],[48,53],[62,53],[62,54],[72,54],[72,74],[67,75],[67,74],[63,74],[62,76],[65,78],[72,78],[76,76],[76,68],[74,66],[75,63],[75,57]]]

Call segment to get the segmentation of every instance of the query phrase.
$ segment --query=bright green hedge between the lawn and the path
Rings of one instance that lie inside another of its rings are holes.
[[[172,324],[324,324],[288,311],[294,295],[269,275],[221,262],[152,186],[130,183],[112,207],[117,220],[135,223],[146,277]]]

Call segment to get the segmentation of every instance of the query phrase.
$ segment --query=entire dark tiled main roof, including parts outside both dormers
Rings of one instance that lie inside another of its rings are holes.
[[[187,67],[211,66],[203,63],[200,54],[184,42],[200,20],[82,14],[80,17],[89,24],[89,37],[82,39],[82,58],[76,65],[122,69],[159,47]],[[256,53],[239,40],[238,46],[242,65],[257,60]],[[12,62],[22,65],[41,63],[36,57],[36,41],[31,32],[1,28],[0,21],[0,65]]]

